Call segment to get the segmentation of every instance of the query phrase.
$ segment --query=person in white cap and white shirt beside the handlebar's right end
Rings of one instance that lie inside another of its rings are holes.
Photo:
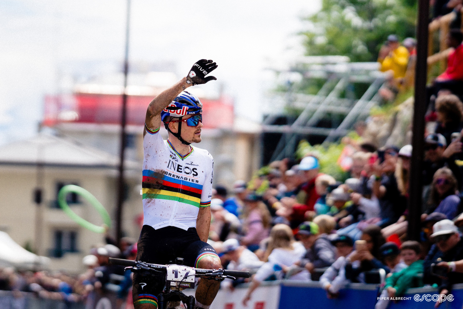
[[[245,246],[240,246],[238,240],[234,238],[225,240],[222,244],[222,249],[222,260],[229,261],[227,265],[228,270],[254,272],[264,264],[254,252],[250,251]],[[233,290],[237,284],[243,282],[244,280],[242,278],[235,281],[232,279],[225,279],[220,284],[220,287]]]

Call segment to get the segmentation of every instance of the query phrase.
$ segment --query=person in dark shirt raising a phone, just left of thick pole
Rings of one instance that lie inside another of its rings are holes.
[[[394,172],[399,150],[389,146],[384,150],[384,161],[376,160],[373,165],[375,182],[373,195],[379,200],[381,222],[380,227],[387,227],[397,221],[405,211],[406,199],[400,194]]]

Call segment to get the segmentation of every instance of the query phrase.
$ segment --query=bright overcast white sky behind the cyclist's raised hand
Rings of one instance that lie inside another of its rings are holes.
[[[37,132],[44,95],[67,75],[116,69],[125,7],[125,0],[0,1],[0,144]],[[198,59],[213,59],[236,114],[257,120],[269,87],[263,69],[303,52],[300,17],[319,8],[320,0],[132,0],[130,59],[173,62],[185,75]]]

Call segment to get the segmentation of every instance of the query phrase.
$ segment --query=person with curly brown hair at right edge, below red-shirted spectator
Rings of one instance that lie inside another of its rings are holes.
[[[463,104],[456,95],[439,95],[435,104],[438,123],[436,133],[442,134],[446,144],[450,145],[452,133],[462,130]]]

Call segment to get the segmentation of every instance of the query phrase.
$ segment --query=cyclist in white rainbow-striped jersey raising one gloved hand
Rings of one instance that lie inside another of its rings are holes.
[[[194,63],[188,76],[150,102],[144,127],[143,213],[137,260],[154,264],[184,264],[206,269],[221,268],[220,259],[206,243],[211,222],[213,158],[191,146],[201,141],[202,104],[186,88],[216,80],[206,76],[217,68],[212,60]],[[169,138],[163,140],[163,122]],[[135,309],[157,308],[165,274],[138,272],[133,277]],[[195,308],[209,308],[220,283],[201,279]]]

